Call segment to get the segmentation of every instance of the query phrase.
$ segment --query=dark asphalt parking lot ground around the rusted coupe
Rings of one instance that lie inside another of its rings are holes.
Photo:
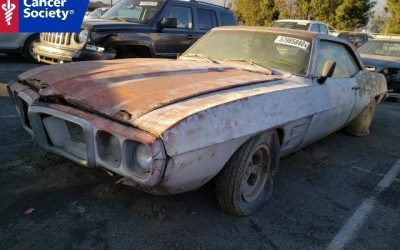
[[[36,147],[5,89],[36,66],[0,55],[0,249],[324,249],[400,159],[400,103],[387,102],[370,136],[337,132],[282,159],[268,206],[235,218],[212,184],[153,196]],[[400,249],[399,178],[346,249]]]

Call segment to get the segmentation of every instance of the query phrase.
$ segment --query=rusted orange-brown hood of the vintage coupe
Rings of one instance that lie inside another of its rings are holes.
[[[57,97],[131,124],[182,100],[277,79],[220,64],[164,59],[81,62],[20,75],[43,97]]]

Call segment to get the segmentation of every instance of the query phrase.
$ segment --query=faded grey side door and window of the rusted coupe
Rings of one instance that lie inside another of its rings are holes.
[[[316,114],[311,122],[307,141],[314,141],[342,128],[350,119],[356,104],[361,66],[345,44],[321,40],[314,70]],[[327,60],[336,62],[333,76],[318,83]]]

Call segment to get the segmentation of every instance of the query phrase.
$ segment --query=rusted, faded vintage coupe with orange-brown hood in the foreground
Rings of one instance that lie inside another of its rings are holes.
[[[349,43],[261,27],[214,29],[178,60],[45,66],[10,86],[45,150],[154,194],[216,177],[239,216],[269,199],[280,157],[344,127],[368,134],[386,92]]]

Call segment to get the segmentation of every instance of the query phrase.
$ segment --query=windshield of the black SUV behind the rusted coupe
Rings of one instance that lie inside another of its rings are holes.
[[[121,0],[102,18],[134,23],[148,23],[160,10],[164,1]]]

